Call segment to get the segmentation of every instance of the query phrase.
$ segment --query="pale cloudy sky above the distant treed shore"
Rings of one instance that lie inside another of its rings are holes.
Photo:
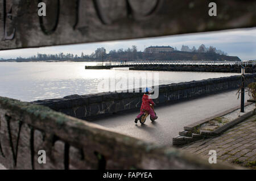
[[[238,56],[241,60],[256,60],[256,27],[242,28],[225,31],[189,33],[184,35],[161,36],[145,39],[103,41],[100,43],[85,43],[75,45],[63,45],[40,48],[26,48],[16,50],[1,50],[0,58],[30,57],[37,53],[58,54],[73,53],[81,56],[81,53],[91,54],[97,48],[104,47],[107,52],[113,49],[127,49],[132,45],[137,46],[138,50],[143,51],[145,47],[167,46],[181,49],[182,45],[188,45],[189,48],[195,46],[198,48],[201,44],[206,47],[216,47],[228,53],[229,56]]]

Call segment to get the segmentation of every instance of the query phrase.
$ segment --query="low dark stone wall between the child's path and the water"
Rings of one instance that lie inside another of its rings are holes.
[[[256,73],[246,74],[246,83],[254,82]],[[159,97],[156,104],[171,103],[188,98],[195,98],[216,92],[238,89],[241,84],[240,75],[231,77],[211,78],[202,81],[172,83],[159,86]],[[100,94],[71,95],[61,99],[47,99],[33,102],[63,112],[79,119],[93,118],[99,115],[139,110],[143,93],[103,92]]]

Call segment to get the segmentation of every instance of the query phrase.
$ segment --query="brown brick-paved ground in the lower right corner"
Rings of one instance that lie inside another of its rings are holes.
[[[216,150],[217,162],[237,163],[256,169],[256,115],[221,136],[199,140],[182,149],[205,158],[209,158],[209,150]]]

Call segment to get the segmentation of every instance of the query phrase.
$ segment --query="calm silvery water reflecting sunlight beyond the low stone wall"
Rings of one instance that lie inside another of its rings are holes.
[[[32,101],[62,98],[72,94],[97,93],[98,84],[105,78],[116,81],[136,77],[137,70],[85,70],[94,62],[0,62],[0,96]],[[159,84],[197,81],[226,77],[236,73],[205,73],[181,71],[148,71],[159,73]],[[138,85],[135,85],[137,87]]]

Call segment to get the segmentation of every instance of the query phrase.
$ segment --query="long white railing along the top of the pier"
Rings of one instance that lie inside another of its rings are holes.
[[[210,66],[255,66],[256,61],[119,61],[103,62],[96,66],[134,66],[134,65],[210,65]]]

